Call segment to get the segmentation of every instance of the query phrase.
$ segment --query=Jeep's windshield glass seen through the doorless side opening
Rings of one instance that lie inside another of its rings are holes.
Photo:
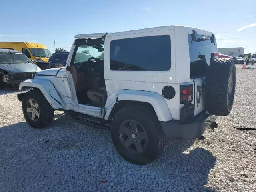
[[[100,47],[101,48],[98,46],[79,45],[74,58],[74,63],[87,61],[90,57],[104,60],[104,45],[100,45]]]

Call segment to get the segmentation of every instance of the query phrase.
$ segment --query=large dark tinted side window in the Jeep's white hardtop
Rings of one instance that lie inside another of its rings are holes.
[[[171,68],[169,35],[112,40],[110,70],[168,71]]]

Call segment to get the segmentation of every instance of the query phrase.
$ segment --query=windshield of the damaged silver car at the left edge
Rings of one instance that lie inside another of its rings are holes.
[[[20,52],[0,52],[0,64],[30,63],[31,61]]]

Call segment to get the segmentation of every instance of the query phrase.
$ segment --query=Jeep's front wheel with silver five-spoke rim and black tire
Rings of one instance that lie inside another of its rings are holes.
[[[54,110],[39,90],[31,90],[22,100],[24,118],[33,128],[43,128],[52,122]]]

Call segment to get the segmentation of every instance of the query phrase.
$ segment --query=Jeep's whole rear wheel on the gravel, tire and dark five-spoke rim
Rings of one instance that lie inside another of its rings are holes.
[[[110,128],[113,144],[126,161],[144,165],[164,150],[164,134],[157,117],[142,107],[128,107],[116,113]]]

